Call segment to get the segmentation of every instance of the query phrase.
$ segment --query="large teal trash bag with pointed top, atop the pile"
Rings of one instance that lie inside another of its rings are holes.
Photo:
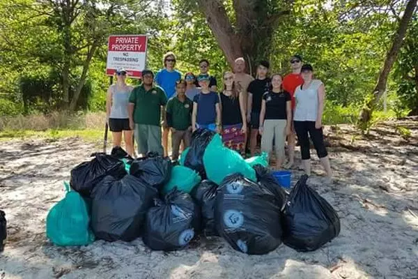
[[[257,181],[256,172],[245,162],[240,153],[226,148],[221,137],[217,134],[206,147],[203,155],[203,165],[210,181],[222,183],[230,174],[240,173],[251,181]]]

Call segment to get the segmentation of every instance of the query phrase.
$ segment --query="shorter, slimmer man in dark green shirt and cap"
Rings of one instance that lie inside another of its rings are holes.
[[[190,145],[192,139],[193,102],[187,96],[186,81],[176,81],[176,95],[167,103],[167,126],[171,128],[172,158],[178,159],[178,149],[183,140],[183,150]]]

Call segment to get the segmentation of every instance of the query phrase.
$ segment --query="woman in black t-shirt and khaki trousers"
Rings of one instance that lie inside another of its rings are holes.
[[[292,102],[291,94],[281,87],[283,77],[272,75],[272,89],[263,94],[261,100],[260,128],[261,151],[276,151],[276,168],[281,169],[284,161],[284,142],[291,133]]]

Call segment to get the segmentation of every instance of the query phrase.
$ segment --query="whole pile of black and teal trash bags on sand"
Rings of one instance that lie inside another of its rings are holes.
[[[268,253],[283,242],[298,251],[320,248],[339,234],[339,218],[307,186],[286,193],[268,169],[268,156],[244,160],[218,134],[196,130],[179,162],[157,153],[134,159],[117,147],[93,153],[71,171],[65,197],[47,216],[47,237],[58,246],[142,238],[172,251],[203,235],[235,250]]]

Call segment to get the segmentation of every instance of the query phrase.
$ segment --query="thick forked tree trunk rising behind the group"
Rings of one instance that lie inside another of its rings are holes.
[[[198,0],[201,12],[231,68],[238,57],[244,57],[255,68],[260,59],[272,52],[272,35],[279,19],[290,10],[279,10],[261,0],[233,0],[235,24],[226,13],[222,0]],[[291,3],[292,1],[288,1]],[[247,67],[249,70],[250,67]]]

